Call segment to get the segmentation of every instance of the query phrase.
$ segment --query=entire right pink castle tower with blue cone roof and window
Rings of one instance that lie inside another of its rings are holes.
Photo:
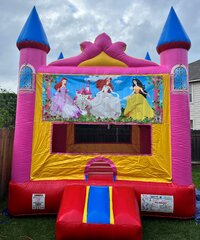
[[[191,42],[173,7],[160,36],[157,52],[160,63],[171,73],[171,154],[173,182],[192,184],[190,115],[188,85],[188,50]]]

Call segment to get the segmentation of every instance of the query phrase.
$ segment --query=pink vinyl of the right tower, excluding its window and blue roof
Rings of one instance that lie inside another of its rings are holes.
[[[161,65],[172,69],[183,64],[188,69],[188,52],[169,49],[160,54]],[[171,78],[172,88],[172,78]],[[189,94],[173,93],[171,89],[172,179],[178,185],[192,184]]]

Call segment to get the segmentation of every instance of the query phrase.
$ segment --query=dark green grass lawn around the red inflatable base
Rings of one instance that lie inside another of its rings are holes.
[[[193,167],[193,182],[200,189],[200,166]],[[7,201],[0,202],[0,212]],[[0,215],[0,240],[53,240],[56,216],[10,218]],[[142,218],[143,240],[199,240],[194,220]]]

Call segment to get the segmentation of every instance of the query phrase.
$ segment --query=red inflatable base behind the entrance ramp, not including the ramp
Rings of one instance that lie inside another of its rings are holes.
[[[195,187],[178,186],[173,183],[149,183],[130,181],[30,181],[25,183],[10,182],[9,186],[9,213],[11,215],[34,215],[34,214],[57,214],[60,207],[61,198],[65,188],[72,185],[82,186],[113,186],[129,187],[135,191],[137,203],[141,210],[141,194],[173,196],[173,212],[145,212],[145,216],[164,216],[173,218],[192,218],[195,214]],[[45,195],[44,209],[32,209],[33,194]],[[80,196],[74,196],[79,199]]]

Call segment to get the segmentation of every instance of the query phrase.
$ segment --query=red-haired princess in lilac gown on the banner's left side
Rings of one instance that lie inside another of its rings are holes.
[[[51,98],[51,115],[61,116],[62,118],[78,118],[81,111],[67,93],[66,83],[67,79],[62,78],[54,87],[56,89],[56,93]]]

